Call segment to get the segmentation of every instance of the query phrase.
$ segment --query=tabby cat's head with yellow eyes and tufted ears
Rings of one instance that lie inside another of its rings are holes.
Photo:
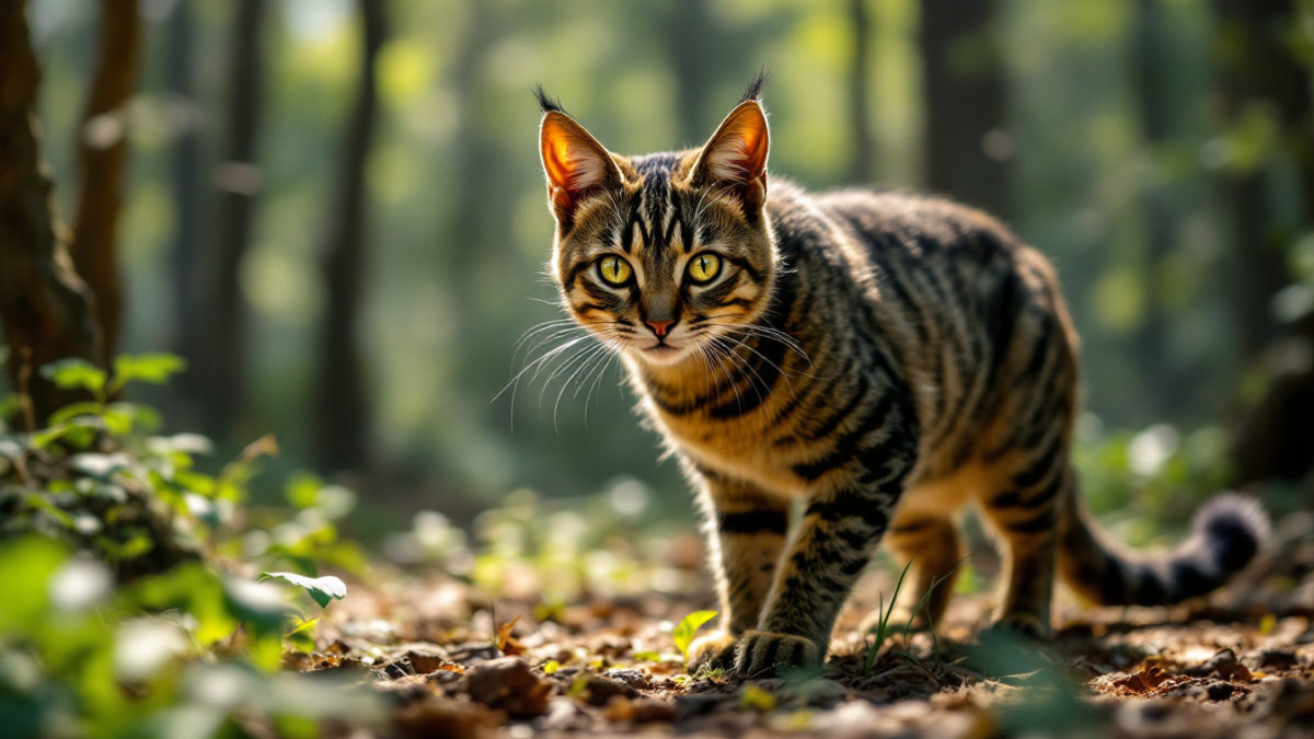
[[[540,91],[551,272],[576,321],[618,351],[700,362],[766,309],[777,258],[758,85],[702,149],[643,156],[607,151]]]

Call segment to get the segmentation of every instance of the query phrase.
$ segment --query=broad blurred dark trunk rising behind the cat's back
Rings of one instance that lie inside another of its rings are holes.
[[[993,12],[988,0],[921,4],[926,185],[1008,217],[1012,138]]]

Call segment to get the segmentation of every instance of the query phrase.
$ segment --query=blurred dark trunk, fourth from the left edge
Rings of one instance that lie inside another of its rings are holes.
[[[214,258],[202,289],[205,321],[194,330],[201,341],[188,359],[201,381],[205,430],[221,437],[242,408],[246,368],[247,309],[238,271],[251,241],[255,196],[260,189],[256,160],[264,92],[260,45],[265,3],[240,0],[233,17],[229,47],[229,124],[223,160],[215,172],[219,188]]]

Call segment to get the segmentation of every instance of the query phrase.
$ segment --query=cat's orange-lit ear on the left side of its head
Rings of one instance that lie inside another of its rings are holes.
[[[560,110],[544,113],[539,147],[543,172],[548,176],[548,201],[564,226],[585,197],[599,189],[620,187],[620,170],[607,149]]]

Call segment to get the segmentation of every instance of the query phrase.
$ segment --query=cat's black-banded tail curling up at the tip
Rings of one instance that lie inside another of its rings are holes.
[[[1077,496],[1067,504],[1059,571],[1068,585],[1102,605],[1172,605],[1204,596],[1250,564],[1269,536],[1264,509],[1235,493],[1209,501],[1190,535],[1158,555],[1112,540]]]

